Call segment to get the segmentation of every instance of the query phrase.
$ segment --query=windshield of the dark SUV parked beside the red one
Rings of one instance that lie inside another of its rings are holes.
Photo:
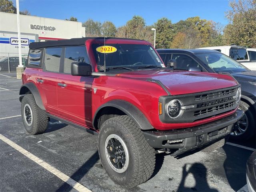
[[[198,53],[196,56],[215,72],[244,72],[248,68],[222,53]]]

